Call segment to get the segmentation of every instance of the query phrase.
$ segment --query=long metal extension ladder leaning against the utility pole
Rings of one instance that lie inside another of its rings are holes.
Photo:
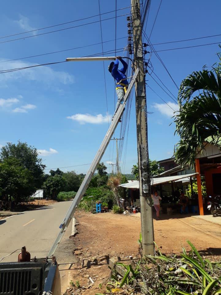
[[[114,134],[115,129],[117,128],[118,120],[122,116],[122,113],[123,113],[125,105],[126,105],[127,98],[130,94],[131,89],[133,88],[133,85],[134,85],[134,82],[137,78],[138,73],[139,73],[139,69],[137,69],[136,72],[134,73],[134,76],[133,76],[133,78],[130,82],[130,85],[127,89],[127,92],[124,96],[124,101],[120,105],[120,107],[118,108],[118,111],[117,111],[116,115],[114,116],[114,119],[113,119],[103,141],[102,141],[102,144],[101,144],[99,150],[97,151],[97,154],[95,155],[95,158],[94,158],[93,162],[91,163],[91,166],[90,166],[89,170],[87,171],[87,174],[85,175],[83,182],[81,183],[79,190],[78,190],[70,208],[68,209],[66,216],[64,217],[64,220],[62,221],[61,225],[59,226],[60,232],[59,232],[55,242],[53,243],[53,245],[48,253],[48,258],[51,258],[52,256],[54,256],[57,246],[59,245],[59,243],[60,243],[60,241],[61,241],[61,239],[62,239],[62,237],[63,237],[63,235],[64,235],[64,233],[65,233],[65,231],[66,231],[66,229],[67,229],[67,227],[68,227],[68,225],[75,213],[76,207],[80,203],[85,191],[87,190],[87,187],[91,181],[91,178],[96,171],[97,165],[100,163],[100,160],[101,160],[101,158],[102,158],[102,156],[103,156],[103,154],[104,154],[104,152],[111,140],[111,137]]]

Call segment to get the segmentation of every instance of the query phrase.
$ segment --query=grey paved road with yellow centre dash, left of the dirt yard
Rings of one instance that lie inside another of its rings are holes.
[[[70,204],[71,201],[55,203],[0,220],[0,259],[22,246],[26,246],[31,258],[47,256]],[[70,254],[74,247],[73,240],[68,240],[71,228],[72,223],[55,253],[59,264],[71,262]],[[2,262],[17,261],[18,252]]]

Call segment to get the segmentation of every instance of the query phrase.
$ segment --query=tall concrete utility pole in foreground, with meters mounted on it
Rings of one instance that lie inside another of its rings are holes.
[[[136,120],[138,142],[138,170],[141,204],[141,232],[143,255],[154,255],[154,234],[150,169],[147,142],[146,87],[142,45],[142,22],[140,0],[131,0],[132,27],[134,37],[134,67],[140,68],[135,82]]]

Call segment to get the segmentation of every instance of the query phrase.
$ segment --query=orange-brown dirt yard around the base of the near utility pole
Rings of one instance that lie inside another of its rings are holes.
[[[139,216],[111,212],[76,213],[79,234],[73,239],[78,263],[70,270],[70,280],[72,284],[85,287],[83,294],[102,293],[102,286],[104,288],[110,275],[108,256],[125,263],[130,263],[130,259],[139,258],[138,238],[141,228]],[[161,215],[161,220],[154,220],[153,224],[155,241],[162,253],[178,254],[182,251],[182,246],[190,250],[186,242],[190,240],[202,255],[212,256],[214,259],[220,258],[221,226],[182,215]],[[73,288],[67,290],[67,294],[81,292],[82,290],[77,290],[73,293]]]

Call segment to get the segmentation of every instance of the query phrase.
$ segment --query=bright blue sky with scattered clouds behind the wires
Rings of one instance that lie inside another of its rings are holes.
[[[82,5],[83,3],[83,5]],[[159,1],[152,1],[146,33],[149,35],[159,6]],[[117,8],[130,6],[130,1],[117,1]],[[99,12],[98,1],[42,1],[2,2],[0,12],[0,37],[39,29],[59,23],[73,21],[96,15]],[[115,9],[115,1],[100,0],[101,13]],[[151,42],[161,43],[194,37],[219,34],[219,12],[221,3],[212,1],[162,1],[161,8],[151,35]],[[129,9],[119,10],[118,15],[129,13]],[[115,13],[105,14],[104,18],[114,17]],[[0,42],[33,36],[17,41],[0,43],[0,69],[14,69],[29,65],[64,61],[67,57],[81,57],[102,52],[101,44],[67,52],[45,56],[2,62],[11,59],[90,45],[101,41],[100,24],[67,29],[60,32],[35,36],[39,33],[77,26],[98,21],[99,17],[73,22],[63,26],[39,30],[14,37],[1,38]],[[117,18],[117,38],[127,36],[126,16]],[[103,41],[115,38],[115,20],[102,22]],[[156,45],[156,50],[200,45],[221,41],[220,37],[185,41],[174,44]],[[127,39],[117,40],[117,49],[126,46]],[[220,42],[221,43],[221,42]],[[114,41],[104,43],[104,51],[114,49]],[[177,85],[194,70],[212,65],[217,61],[215,55],[218,45],[202,46],[159,52],[159,55]],[[123,52],[121,53],[124,54]],[[126,54],[126,52],[125,52]],[[113,54],[111,54],[113,55]],[[149,57],[149,55],[147,55]],[[177,96],[177,89],[153,54],[151,63],[154,72],[161,78],[170,91]],[[114,112],[114,83],[105,62],[108,112]],[[177,108],[175,102],[152,80],[146,76],[151,86],[170,106]],[[147,87],[148,139],[151,159],[165,159],[173,155],[173,147],[178,138],[174,136],[175,126],[172,110]],[[137,142],[135,123],[135,102],[133,97],[128,144],[126,140],[122,150],[122,172],[130,173],[137,162]],[[68,118],[69,117],[69,118]],[[12,73],[0,74],[0,145],[7,141],[16,143],[26,141],[39,150],[47,169],[56,167],[63,171],[76,170],[85,173],[91,163],[103,136],[107,123],[107,106],[104,88],[102,62],[67,62],[56,65],[25,69]],[[120,124],[115,137],[120,136]],[[125,156],[126,152],[126,156]],[[115,145],[111,141],[103,160],[111,170],[116,157]],[[123,159],[125,159],[123,161]],[[76,166],[76,167],[74,167]],[[48,172],[49,170],[46,170]]]

